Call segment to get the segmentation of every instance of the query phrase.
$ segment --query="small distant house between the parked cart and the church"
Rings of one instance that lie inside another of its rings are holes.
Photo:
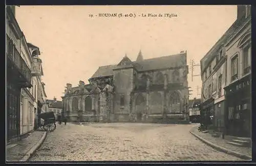
[[[46,100],[47,112],[53,112],[56,119],[62,114],[62,101],[58,101],[55,97],[53,100]]]

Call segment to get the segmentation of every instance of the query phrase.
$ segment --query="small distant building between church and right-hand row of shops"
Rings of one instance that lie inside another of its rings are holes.
[[[193,123],[200,123],[200,104],[201,99],[194,98],[193,100],[188,101],[188,110],[189,110],[189,121]]]

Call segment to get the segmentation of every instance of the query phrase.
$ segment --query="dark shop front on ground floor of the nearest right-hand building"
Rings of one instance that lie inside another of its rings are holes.
[[[251,137],[251,74],[224,89],[226,134]]]

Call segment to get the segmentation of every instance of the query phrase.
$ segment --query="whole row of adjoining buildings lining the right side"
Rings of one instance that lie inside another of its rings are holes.
[[[238,5],[237,20],[200,62],[202,123],[229,135],[251,131],[250,8]]]

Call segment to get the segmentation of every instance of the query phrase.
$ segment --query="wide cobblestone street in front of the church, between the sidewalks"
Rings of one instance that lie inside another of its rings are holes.
[[[195,124],[57,124],[30,161],[242,160],[199,141],[189,133],[193,126]]]

